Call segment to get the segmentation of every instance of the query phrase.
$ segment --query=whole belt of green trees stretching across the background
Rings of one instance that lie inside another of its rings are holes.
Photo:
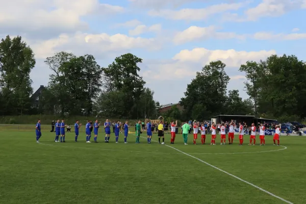
[[[115,58],[107,67],[100,67],[92,55],[56,53],[45,60],[52,74],[35,108],[30,79],[36,64],[33,50],[20,36],[7,36],[0,43],[0,114],[157,117],[160,104],[154,99],[154,91],[145,88],[139,63],[142,59],[130,53]],[[249,95],[244,100],[238,90],[227,90],[230,78],[225,67],[221,61],[204,66],[180,100],[184,111],[172,107],[162,115],[169,120],[205,120],[220,114],[280,120],[306,117],[306,64],[296,56],[272,55],[241,65]]]

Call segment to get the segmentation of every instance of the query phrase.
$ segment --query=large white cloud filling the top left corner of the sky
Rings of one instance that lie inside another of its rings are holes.
[[[78,31],[87,28],[82,17],[121,13],[124,8],[100,4],[98,0],[11,0],[0,7],[0,30]]]

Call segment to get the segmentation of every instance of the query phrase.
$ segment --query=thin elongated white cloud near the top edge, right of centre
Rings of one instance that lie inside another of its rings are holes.
[[[172,20],[205,20],[211,15],[223,13],[231,10],[238,10],[245,6],[246,3],[236,4],[218,4],[202,9],[181,9],[181,10],[151,10],[148,12],[150,16],[164,17]]]

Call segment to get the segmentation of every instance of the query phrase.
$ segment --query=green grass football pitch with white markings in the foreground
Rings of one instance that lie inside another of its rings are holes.
[[[55,133],[0,133],[0,203],[306,203],[306,148],[304,137],[281,136],[274,146],[184,145],[165,135],[166,145],[140,144],[130,134],[110,143],[86,143],[81,133],[66,133],[55,143]],[[91,138],[93,141],[93,137]],[[259,137],[257,136],[257,143]]]

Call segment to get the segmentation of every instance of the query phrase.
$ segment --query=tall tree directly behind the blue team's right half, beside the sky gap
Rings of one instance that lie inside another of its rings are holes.
[[[142,59],[128,53],[115,58],[112,64],[103,68],[105,81],[108,82],[106,90],[121,91],[124,94],[123,115],[127,117],[133,116],[133,106],[144,91],[145,82],[138,74],[138,63],[141,62]]]

